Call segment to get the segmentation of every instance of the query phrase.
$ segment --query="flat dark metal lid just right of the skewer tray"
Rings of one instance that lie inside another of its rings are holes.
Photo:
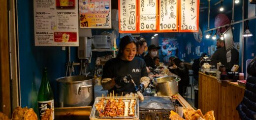
[[[168,97],[144,96],[144,100],[139,100],[139,109],[174,110],[175,108]]]

